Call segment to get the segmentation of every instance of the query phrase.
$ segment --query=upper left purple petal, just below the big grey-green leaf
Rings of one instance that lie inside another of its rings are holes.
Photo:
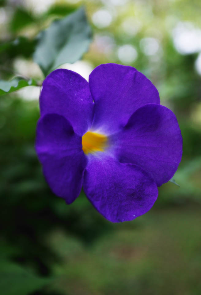
[[[56,113],[66,117],[82,136],[91,126],[93,105],[89,84],[79,74],[57,69],[45,78],[40,94],[41,115]]]

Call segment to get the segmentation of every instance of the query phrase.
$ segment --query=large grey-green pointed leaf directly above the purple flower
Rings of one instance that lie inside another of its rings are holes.
[[[54,21],[38,35],[34,61],[47,76],[53,69],[66,62],[73,63],[88,50],[92,31],[83,8],[66,18]]]

